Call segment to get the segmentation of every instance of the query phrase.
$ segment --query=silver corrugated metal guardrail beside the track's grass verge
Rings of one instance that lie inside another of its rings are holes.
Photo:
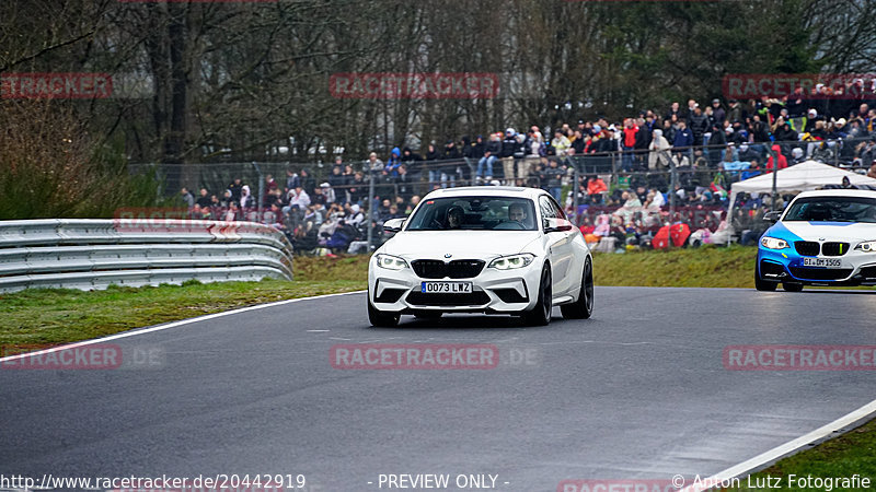
[[[0,222],[0,292],[292,279],[292,247],[252,222]]]

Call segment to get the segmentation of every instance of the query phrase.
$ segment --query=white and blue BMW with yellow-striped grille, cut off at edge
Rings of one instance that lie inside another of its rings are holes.
[[[754,283],[759,291],[804,285],[876,284],[876,191],[804,191],[761,236]]]

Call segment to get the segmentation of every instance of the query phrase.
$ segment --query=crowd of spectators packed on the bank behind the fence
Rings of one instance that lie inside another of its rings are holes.
[[[596,241],[646,246],[660,227],[681,222],[708,242],[728,225],[727,191],[736,180],[809,159],[868,168],[876,177],[876,109],[833,103],[714,99],[701,107],[690,99],[683,108],[672,103],[620,122],[599,117],[544,131],[507,128],[440,148],[394,148],[385,160],[372,152],[355,164],[338,156],[319,179],[307,168],[289,168],[279,183],[267,176],[262,203],[241,179],[221,194],[201,188],[197,197],[187,189],[182,196],[195,218],[269,224],[299,251],[365,251],[368,227],[379,243],[385,220],[410,214],[433,189],[459,184],[543,188]],[[374,202],[368,203],[371,176]],[[764,209],[760,197],[740,200],[729,221],[738,231]]]

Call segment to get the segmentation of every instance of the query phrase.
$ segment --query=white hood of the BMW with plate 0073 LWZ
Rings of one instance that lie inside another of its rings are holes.
[[[492,258],[520,253],[539,237],[538,231],[410,231],[393,236],[381,253],[406,259]]]

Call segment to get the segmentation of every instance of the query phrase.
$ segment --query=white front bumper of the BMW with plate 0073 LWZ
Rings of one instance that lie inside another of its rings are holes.
[[[389,270],[372,257],[368,268],[368,295],[383,312],[448,312],[514,314],[531,309],[541,281],[543,261],[512,270],[484,269],[469,279],[424,279],[411,267]],[[408,262],[410,263],[410,262]],[[472,282],[469,294],[423,293],[423,282]]]

